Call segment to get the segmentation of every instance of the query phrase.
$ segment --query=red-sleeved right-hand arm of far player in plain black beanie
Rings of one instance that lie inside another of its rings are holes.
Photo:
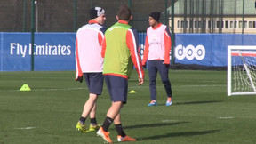
[[[164,64],[167,64],[167,65],[170,64],[171,46],[172,46],[171,34],[168,28],[166,28],[164,32],[164,48],[165,48]]]

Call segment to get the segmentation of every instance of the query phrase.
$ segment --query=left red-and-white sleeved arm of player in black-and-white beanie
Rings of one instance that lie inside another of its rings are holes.
[[[76,81],[83,82],[83,73],[80,67],[79,53],[78,53],[78,40],[76,37]]]

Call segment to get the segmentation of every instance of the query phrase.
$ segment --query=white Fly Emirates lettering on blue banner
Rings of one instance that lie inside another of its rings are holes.
[[[21,55],[22,58],[26,57],[27,54],[31,55],[31,44],[22,45],[19,43],[10,43],[10,54]],[[70,45],[50,45],[45,43],[44,45],[34,44],[34,55],[53,55],[53,56],[68,56],[71,54]]]

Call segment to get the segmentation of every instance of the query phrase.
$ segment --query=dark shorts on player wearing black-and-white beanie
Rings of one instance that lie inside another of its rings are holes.
[[[103,87],[102,73],[84,73],[84,78],[89,92],[100,95]]]

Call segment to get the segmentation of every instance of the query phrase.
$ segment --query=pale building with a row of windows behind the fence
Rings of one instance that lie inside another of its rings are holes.
[[[174,6],[175,33],[256,34],[254,0],[179,0]]]

